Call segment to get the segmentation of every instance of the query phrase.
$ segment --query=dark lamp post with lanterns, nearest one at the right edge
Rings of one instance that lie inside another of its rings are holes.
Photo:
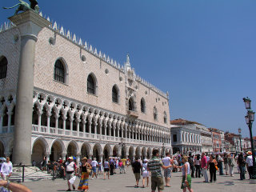
[[[245,102],[246,105],[246,124],[249,127],[250,131],[250,145],[251,145],[251,151],[253,154],[253,173],[252,173],[252,178],[250,179],[250,183],[256,184],[256,164],[255,164],[255,151],[254,151],[254,139],[253,139],[253,134],[252,134],[252,126],[254,122],[254,114],[255,112],[253,110],[250,110],[250,98],[243,98],[243,102]]]

